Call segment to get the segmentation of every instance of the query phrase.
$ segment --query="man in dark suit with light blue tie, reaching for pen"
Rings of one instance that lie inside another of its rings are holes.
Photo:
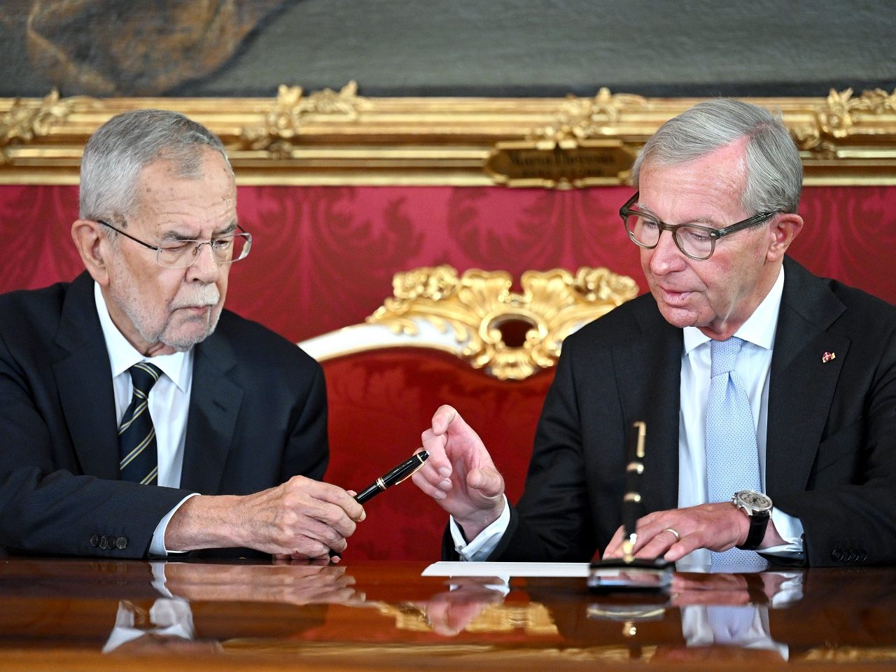
[[[803,226],[787,129],[707,101],[659,129],[633,181],[620,214],[650,295],[564,342],[519,504],[454,409],[424,433],[414,480],[452,514],[446,555],[622,555],[629,428],[643,420],[635,556],[896,562],[896,310],[785,256]]]

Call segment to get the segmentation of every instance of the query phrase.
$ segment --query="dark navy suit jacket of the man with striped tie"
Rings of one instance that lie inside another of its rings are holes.
[[[83,273],[71,284],[0,296],[4,547],[142,557],[161,518],[191,492],[245,495],[296,474],[322,478],[326,422],[321,367],[224,311],[195,347],[181,488],[121,481],[93,280]],[[94,535],[113,547],[95,547]]]

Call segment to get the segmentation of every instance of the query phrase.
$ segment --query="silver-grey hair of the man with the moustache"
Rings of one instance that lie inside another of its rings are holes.
[[[125,218],[138,205],[140,172],[157,159],[170,161],[178,177],[201,176],[202,154],[218,151],[233,169],[224,145],[202,124],[163,109],[137,109],[113,116],[90,136],[81,159],[83,220]]]

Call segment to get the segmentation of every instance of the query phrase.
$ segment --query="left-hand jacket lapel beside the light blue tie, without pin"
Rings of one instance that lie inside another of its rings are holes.
[[[641,493],[647,512],[678,505],[678,415],[681,394],[682,331],[663,319],[656,304],[645,301],[635,314],[646,338],[616,349],[619,399],[628,429],[636,420],[647,426]]]

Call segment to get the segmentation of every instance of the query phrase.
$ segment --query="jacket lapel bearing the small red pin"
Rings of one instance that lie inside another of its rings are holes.
[[[765,488],[772,499],[806,489],[850,344],[825,331],[846,308],[823,280],[789,259],[784,273],[766,439]],[[825,352],[836,357],[823,361]]]

